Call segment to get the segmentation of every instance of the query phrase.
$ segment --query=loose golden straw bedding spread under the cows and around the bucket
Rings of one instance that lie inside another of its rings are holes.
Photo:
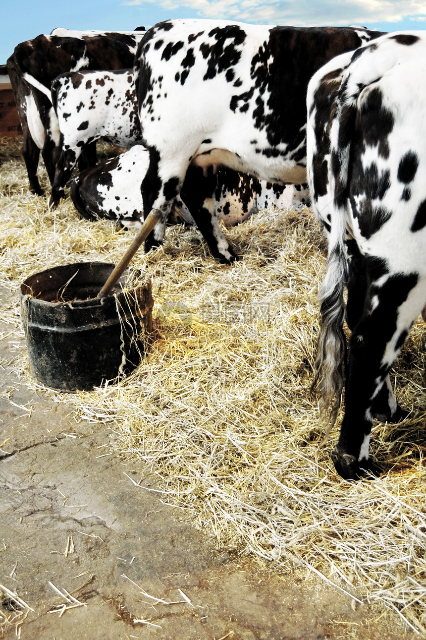
[[[44,176],[45,180],[45,176]],[[115,262],[130,234],[49,211],[30,196],[22,161],[1,172],[3,282],[67,262]],[[266,210],[226,230],[241,259],[221,266],[196,230],[170,227],[135,267],[152,278],[161,337],[118,385],[78,394],[86,420],[108,422],[120,452],[159,477],[166,501],[217,543],[276,572],[321,575],[362,602],[380,601],[426,633],[425,331],[419,319],[393,378],[413,417],[375,423],[372,452],[388,472],[347,483],[324,448],[310,396],[325,244],[309,209]],[[19,326],[17,299],[10,322]],[[22,373],[28,376],[26,357]],[[32,382],[34,384],[34,381]],[[47,391],[48,392],[48,391]]]

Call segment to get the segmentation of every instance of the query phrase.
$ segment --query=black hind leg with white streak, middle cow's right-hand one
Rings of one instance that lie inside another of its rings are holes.
[[[217,220],[214,198],[216,184],[217,176],[212,167],[203,170],[200,166],[189,166],[180,195],[214,259],[221,264],[232,264],[237,260],[237,256],[233,253]]]

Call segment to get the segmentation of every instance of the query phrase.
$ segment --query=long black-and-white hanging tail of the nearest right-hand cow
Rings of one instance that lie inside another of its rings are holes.
[[[356,116],[356,96],[348,99],[343,81],[337,100],[336,118],[331,127],[329,179],[333,183],[331,231],[327,269],[319,291],[321,326],[313,387],[320,392],[320,415],[335,424],[345,386],[347,342],[343,329],[344,292],[349,280],[347,256],[347,202],[352,132]]]

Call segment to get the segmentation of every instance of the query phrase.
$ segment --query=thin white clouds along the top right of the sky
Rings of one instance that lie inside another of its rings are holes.
[[[224,18],[269,24],[368,24],[425,20],[426,1],[421,0],[130,0],[125,5],[155,4],[180,15]]]

